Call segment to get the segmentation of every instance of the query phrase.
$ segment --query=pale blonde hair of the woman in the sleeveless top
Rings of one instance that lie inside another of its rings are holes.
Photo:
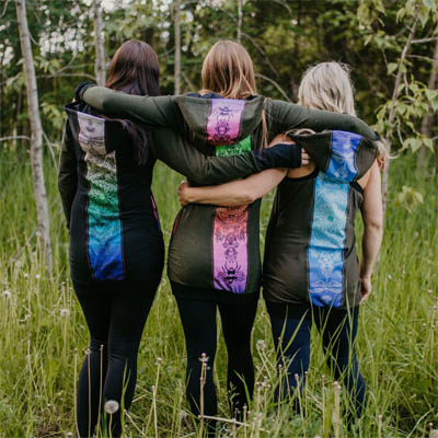
[[[341,62],[320,62],[306,70],[298,89],[298,103],[308,108],[345,113],[356,116],[350,67]],[[378,162],[384,166],[388,149],[383,140],[376,141]]]

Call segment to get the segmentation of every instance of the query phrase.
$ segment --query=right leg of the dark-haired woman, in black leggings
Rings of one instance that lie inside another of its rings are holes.
[[[108,366],[104,403],[114,400],[119,410],[111,418],[112,437],[122,434],[120,412],[129,408],[137,382],[137,355],[157,287],[114,293],[108,332]],[[108,424],[108,422],[107,422]]]

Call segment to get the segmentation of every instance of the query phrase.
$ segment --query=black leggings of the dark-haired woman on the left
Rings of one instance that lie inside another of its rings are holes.
[[[106,415],[103,427],[111,423],[112,436],[119,437],[120,410],[128,408],[132,401],[138,347],[157,287],[126,292],[85,291],[77,285],[74,289],[91,335],[78,383],[79,436],[91,437],[99,416]],[[106,401],[119,404],[111,422],[103,410]]]

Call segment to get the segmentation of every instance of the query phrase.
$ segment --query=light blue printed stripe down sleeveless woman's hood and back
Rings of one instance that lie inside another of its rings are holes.
[[[334,131],[327,172],[316,176],[308,263],[310,299],[318,307],[343,306],[348,192],[357,176],[360,140],[355,134]]]

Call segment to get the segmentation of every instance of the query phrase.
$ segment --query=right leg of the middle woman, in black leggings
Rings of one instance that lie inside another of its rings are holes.
[[[257,300],[246,306],[219,304],[223,337],[228,350],[228,393],[232,415],[241,418],[254,391],[254,364],[251,354],[251,332],[257,311]]]

